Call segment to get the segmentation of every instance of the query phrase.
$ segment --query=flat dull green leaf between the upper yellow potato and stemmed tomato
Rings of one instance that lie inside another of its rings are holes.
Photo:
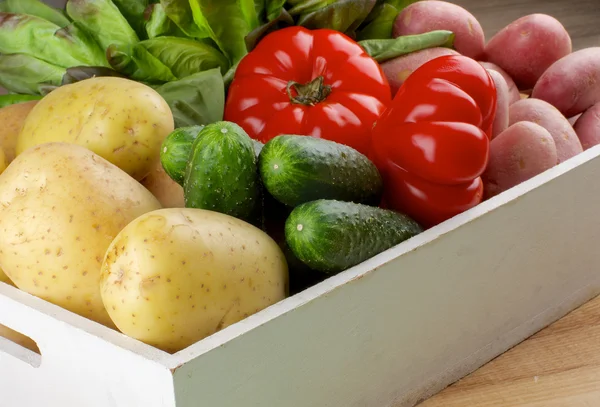
[[[218,69],[199,72],[155,89],[169,104],[177,128],[223,120],[225,87]]]

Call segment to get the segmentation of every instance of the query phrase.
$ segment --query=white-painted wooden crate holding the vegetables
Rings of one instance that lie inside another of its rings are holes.
[[[174,355],[0,284],[0,406],[413,406],[600,293],[599,156]]]

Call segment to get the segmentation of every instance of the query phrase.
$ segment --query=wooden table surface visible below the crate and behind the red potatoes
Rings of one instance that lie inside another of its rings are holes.
[[[573,48],[600,46],[600,0],[455,0],[490,38],[511,21],[547,13]],[[419,407],[600,407],[600,297]]]

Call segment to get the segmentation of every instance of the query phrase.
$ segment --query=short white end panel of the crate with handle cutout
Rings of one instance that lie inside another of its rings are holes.
[[[3,283],[0,324],[28,335],[41,351],[0,341],[2,407],[175,406],[168,368],[103,338],[130,346],[123,335]]]

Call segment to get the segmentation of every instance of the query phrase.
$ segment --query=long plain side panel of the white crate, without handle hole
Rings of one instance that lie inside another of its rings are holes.
[[[497,356],[600,292],[599,152],[461,215],[447,228],[515,197],[400,258],[406,244],[372,259],[359,278],[254,330],[222,331],[234,339],[175,372],[177,406],[411,406]]]

